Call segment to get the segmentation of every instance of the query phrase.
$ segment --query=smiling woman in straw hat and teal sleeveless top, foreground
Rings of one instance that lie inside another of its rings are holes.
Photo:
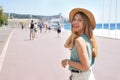
[[[69,65],[70,80],[95,80],[92,65],[97,55],[97,44],[93,35],[96,26],[93,14],[83,8],[74,8],[70,14],[71,35],[65,47],[71,50],[70,59],[62,60],[62,66]]]

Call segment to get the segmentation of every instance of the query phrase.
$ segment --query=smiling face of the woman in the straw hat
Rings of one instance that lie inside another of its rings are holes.
[[[83,31],[83,18],[80,14],[76,14],[72,21],[72,30],[73,32],[77,32],[78,34]]]

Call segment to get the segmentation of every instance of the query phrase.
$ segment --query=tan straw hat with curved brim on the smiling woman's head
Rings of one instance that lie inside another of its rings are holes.
[[[83,12],[89,18],[90,24],[91,24],[92,28],[95,29],[96,22],[95,22],[94,15],[89,10],[86,10],[86,9],[83,9],[83,8],[74,8],[74,9],[71,10],[71,12],[69,14],[69,20],[70,20],[70,22],[72,22],[73,16],[77,12]]]

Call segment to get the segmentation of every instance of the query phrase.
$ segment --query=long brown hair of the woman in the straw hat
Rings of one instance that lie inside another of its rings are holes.
[[[83,20],[84,20],[83,33],[86,34],[86,36],[90,40],[90,43],[92,45],[92,56],[93,56],[93,58],[95,58],[97,56],[98,48],[97,48],[97,43],[96,43],[95,36],[93,35],[93,29],[92,29],[92,26],[90,24],[90,20],[83,12],[77,12],[76,14],[80,14],[82,16]],[[77,34],[77,32],[73,32],[72,28],[71,28],[71,31],[74,35],[74,40],[73,41],[75,42],[75,39],[77,37],[79,37],[79,35]]]

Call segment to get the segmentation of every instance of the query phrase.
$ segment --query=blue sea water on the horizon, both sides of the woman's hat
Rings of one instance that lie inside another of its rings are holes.
[[[70,23],[64,24],[64,28],[66,30],[71,30]],[[110,24],[109,23],[104,23],[103,26],[102,26],[101,23],[97,23],[96,24],[96,29],[108,29],[108,30],[117,29],[117,30],[120,30],[120,23],[117,23],[117,24],[115,24],[115,23],[110,23]]]

